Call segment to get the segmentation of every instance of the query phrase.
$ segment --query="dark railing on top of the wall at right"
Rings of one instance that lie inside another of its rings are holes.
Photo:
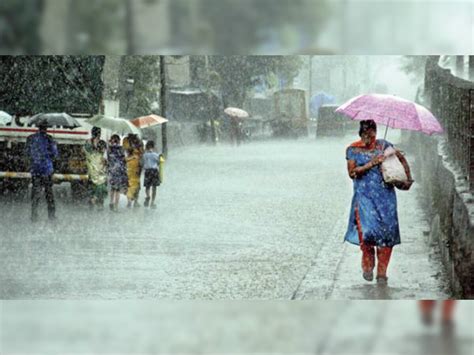
[[[454,76],[429,57],[424,94],[433,114],[441,121],[449,155],[474,190],[474,82]]]

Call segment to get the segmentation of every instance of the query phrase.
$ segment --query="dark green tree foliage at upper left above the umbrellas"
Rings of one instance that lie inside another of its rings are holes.
[[[0,57],[0,110],[97,113],[103,64],[103,56]]]

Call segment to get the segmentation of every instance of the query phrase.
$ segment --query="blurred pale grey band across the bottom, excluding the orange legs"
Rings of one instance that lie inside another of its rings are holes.
[[[414,301],[2,301],[5,354],[470,355],[474,303],[450,331]],[[8,325],[8,326],[7,326]]]

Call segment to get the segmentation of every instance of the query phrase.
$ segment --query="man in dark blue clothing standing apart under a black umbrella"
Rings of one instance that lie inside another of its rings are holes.
[[[38,124],[38,132],[29,136],[26,140],[26,151],[30,158],[31,182],[31,220],[38,220],[38,205],[41,190],[44,189],[46,202],[48,204],[48,217],[50,220],[56,218],[56,208],[53,194],[53,161],[58,156],[58,148],[53,138],[47,133],[48,124],[41,121]]]

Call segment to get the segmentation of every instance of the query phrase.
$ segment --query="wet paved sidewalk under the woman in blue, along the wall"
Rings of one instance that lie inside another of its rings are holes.
[[[437,250],[426,242],[427,225],[418,207],[418,188],[397,192],[402,244],[393,249],[387,287],[362,278],[358,246],[341,243],[347,216],[318,251],[295,299],[447,299],[449,282]]]

